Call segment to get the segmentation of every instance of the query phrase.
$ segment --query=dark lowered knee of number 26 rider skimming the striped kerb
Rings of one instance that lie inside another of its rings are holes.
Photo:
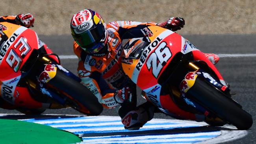
[[[128,112],[122,118],[122,124],[124,124],[125,129],[138,130],[154,117],[154,111],[154,106],[149,105],[148,102],[143,103],[134,111]]]

